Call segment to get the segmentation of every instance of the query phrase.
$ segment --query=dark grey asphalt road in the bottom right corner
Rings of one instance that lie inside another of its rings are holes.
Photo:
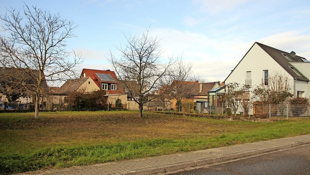
[[[310,175],[310,144],[169,175]]]

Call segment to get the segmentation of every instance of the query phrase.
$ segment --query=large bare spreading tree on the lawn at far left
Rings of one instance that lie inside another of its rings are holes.
[[[74,67],[82,62],[74,53],[72,60],[66,51],[66,39],[75,37],[77,27],[72,21],[64,20],[35,6],[24,5],[22,13],[14,8],[0,16],[4,33],[0,36],[0,64],[23,70],[32,83],[25,86],[35,97],[35,115],[39,117],[39,100],[45,93],[45,81],[54,82],[76,77]]]

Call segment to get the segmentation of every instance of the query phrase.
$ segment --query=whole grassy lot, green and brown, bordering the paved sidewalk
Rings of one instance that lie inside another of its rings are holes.
[[[310,118],[212,120],[137,111],[0,113],[0,174],[69,167],[310,134]]]

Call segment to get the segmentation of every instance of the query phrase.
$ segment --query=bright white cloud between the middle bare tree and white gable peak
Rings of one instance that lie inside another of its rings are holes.
[[[181,32],[171,29],[154,29],[152,34],[162,38],[160,44],[165,55],[183,56],[193,64],[193,72],[205,82],[223,81],[254,42],[220,41],[201,33]]]

